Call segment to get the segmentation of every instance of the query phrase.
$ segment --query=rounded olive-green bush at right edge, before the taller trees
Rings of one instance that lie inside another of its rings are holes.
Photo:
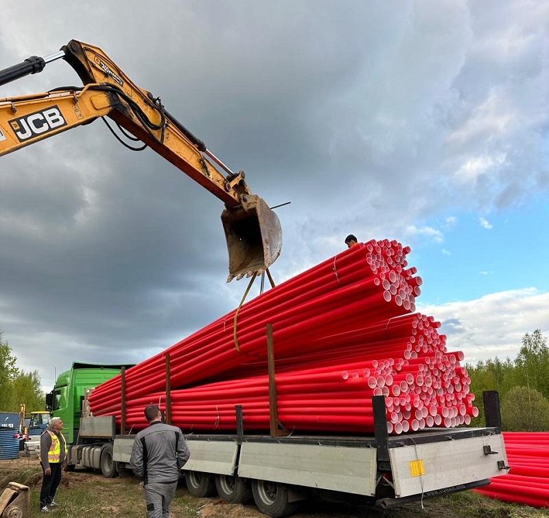
[[[549,431],[549,400],[528,387],[513,387],[502,398],[504,431]]]

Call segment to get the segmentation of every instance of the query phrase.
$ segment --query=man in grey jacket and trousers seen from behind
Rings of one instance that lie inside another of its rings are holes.
[[[135,436],[130,466],[143,477],[147,518],[169,518],[180,469],[191,454],[183,432],[162,423],[158,405],[145,407],[145,418],[149,427]]]

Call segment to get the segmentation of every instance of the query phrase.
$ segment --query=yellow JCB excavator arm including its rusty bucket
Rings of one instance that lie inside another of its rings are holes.
[[[282,246],[279,218],[250,192],[244,172],[229,170],[159,98],[134,85],[100,48],[71,40],[52,56],[32,56],[0,70],[0,86],[36,74],[60,58],[75,69],[83,86],[0,98],[0,156],[106,115],[143,143],[139,150],[152,148],[223,201],[227,281],[263,273],[277,260]]]

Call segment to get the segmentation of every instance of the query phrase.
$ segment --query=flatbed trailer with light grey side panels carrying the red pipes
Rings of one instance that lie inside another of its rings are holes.
[[[291,515],[312,496],[387,507],[467,491],[509,470],[497,393],[484,393],[484,405],[486,427],[432,428],[397,436],[387,433],[383,396],[373,398],[372,436],[247,435],[237,419],[240,425],[232,435],[185,436],[191,451],[185,481],[197,497],[218,494],[241,504],[253,498],[273,518]],[[238,416],[238,407],[236,412]],[[113,436],[117,471],[129,468],[134,438]]]

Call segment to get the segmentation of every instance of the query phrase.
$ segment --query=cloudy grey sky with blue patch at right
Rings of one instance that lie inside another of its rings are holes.
[[[4,0],[0,68],[101,47],[277,210],[279,283],[397,239],[465,361],[549,332],[546,0]],[[81,85],[63,60],[0,97]],[[0,330],[45,390],[237,306],[223,204],[102,121],[0,158]],[[256,289],[256,288],[255,288]],[[253,295],[257,295],[257,289]]]

